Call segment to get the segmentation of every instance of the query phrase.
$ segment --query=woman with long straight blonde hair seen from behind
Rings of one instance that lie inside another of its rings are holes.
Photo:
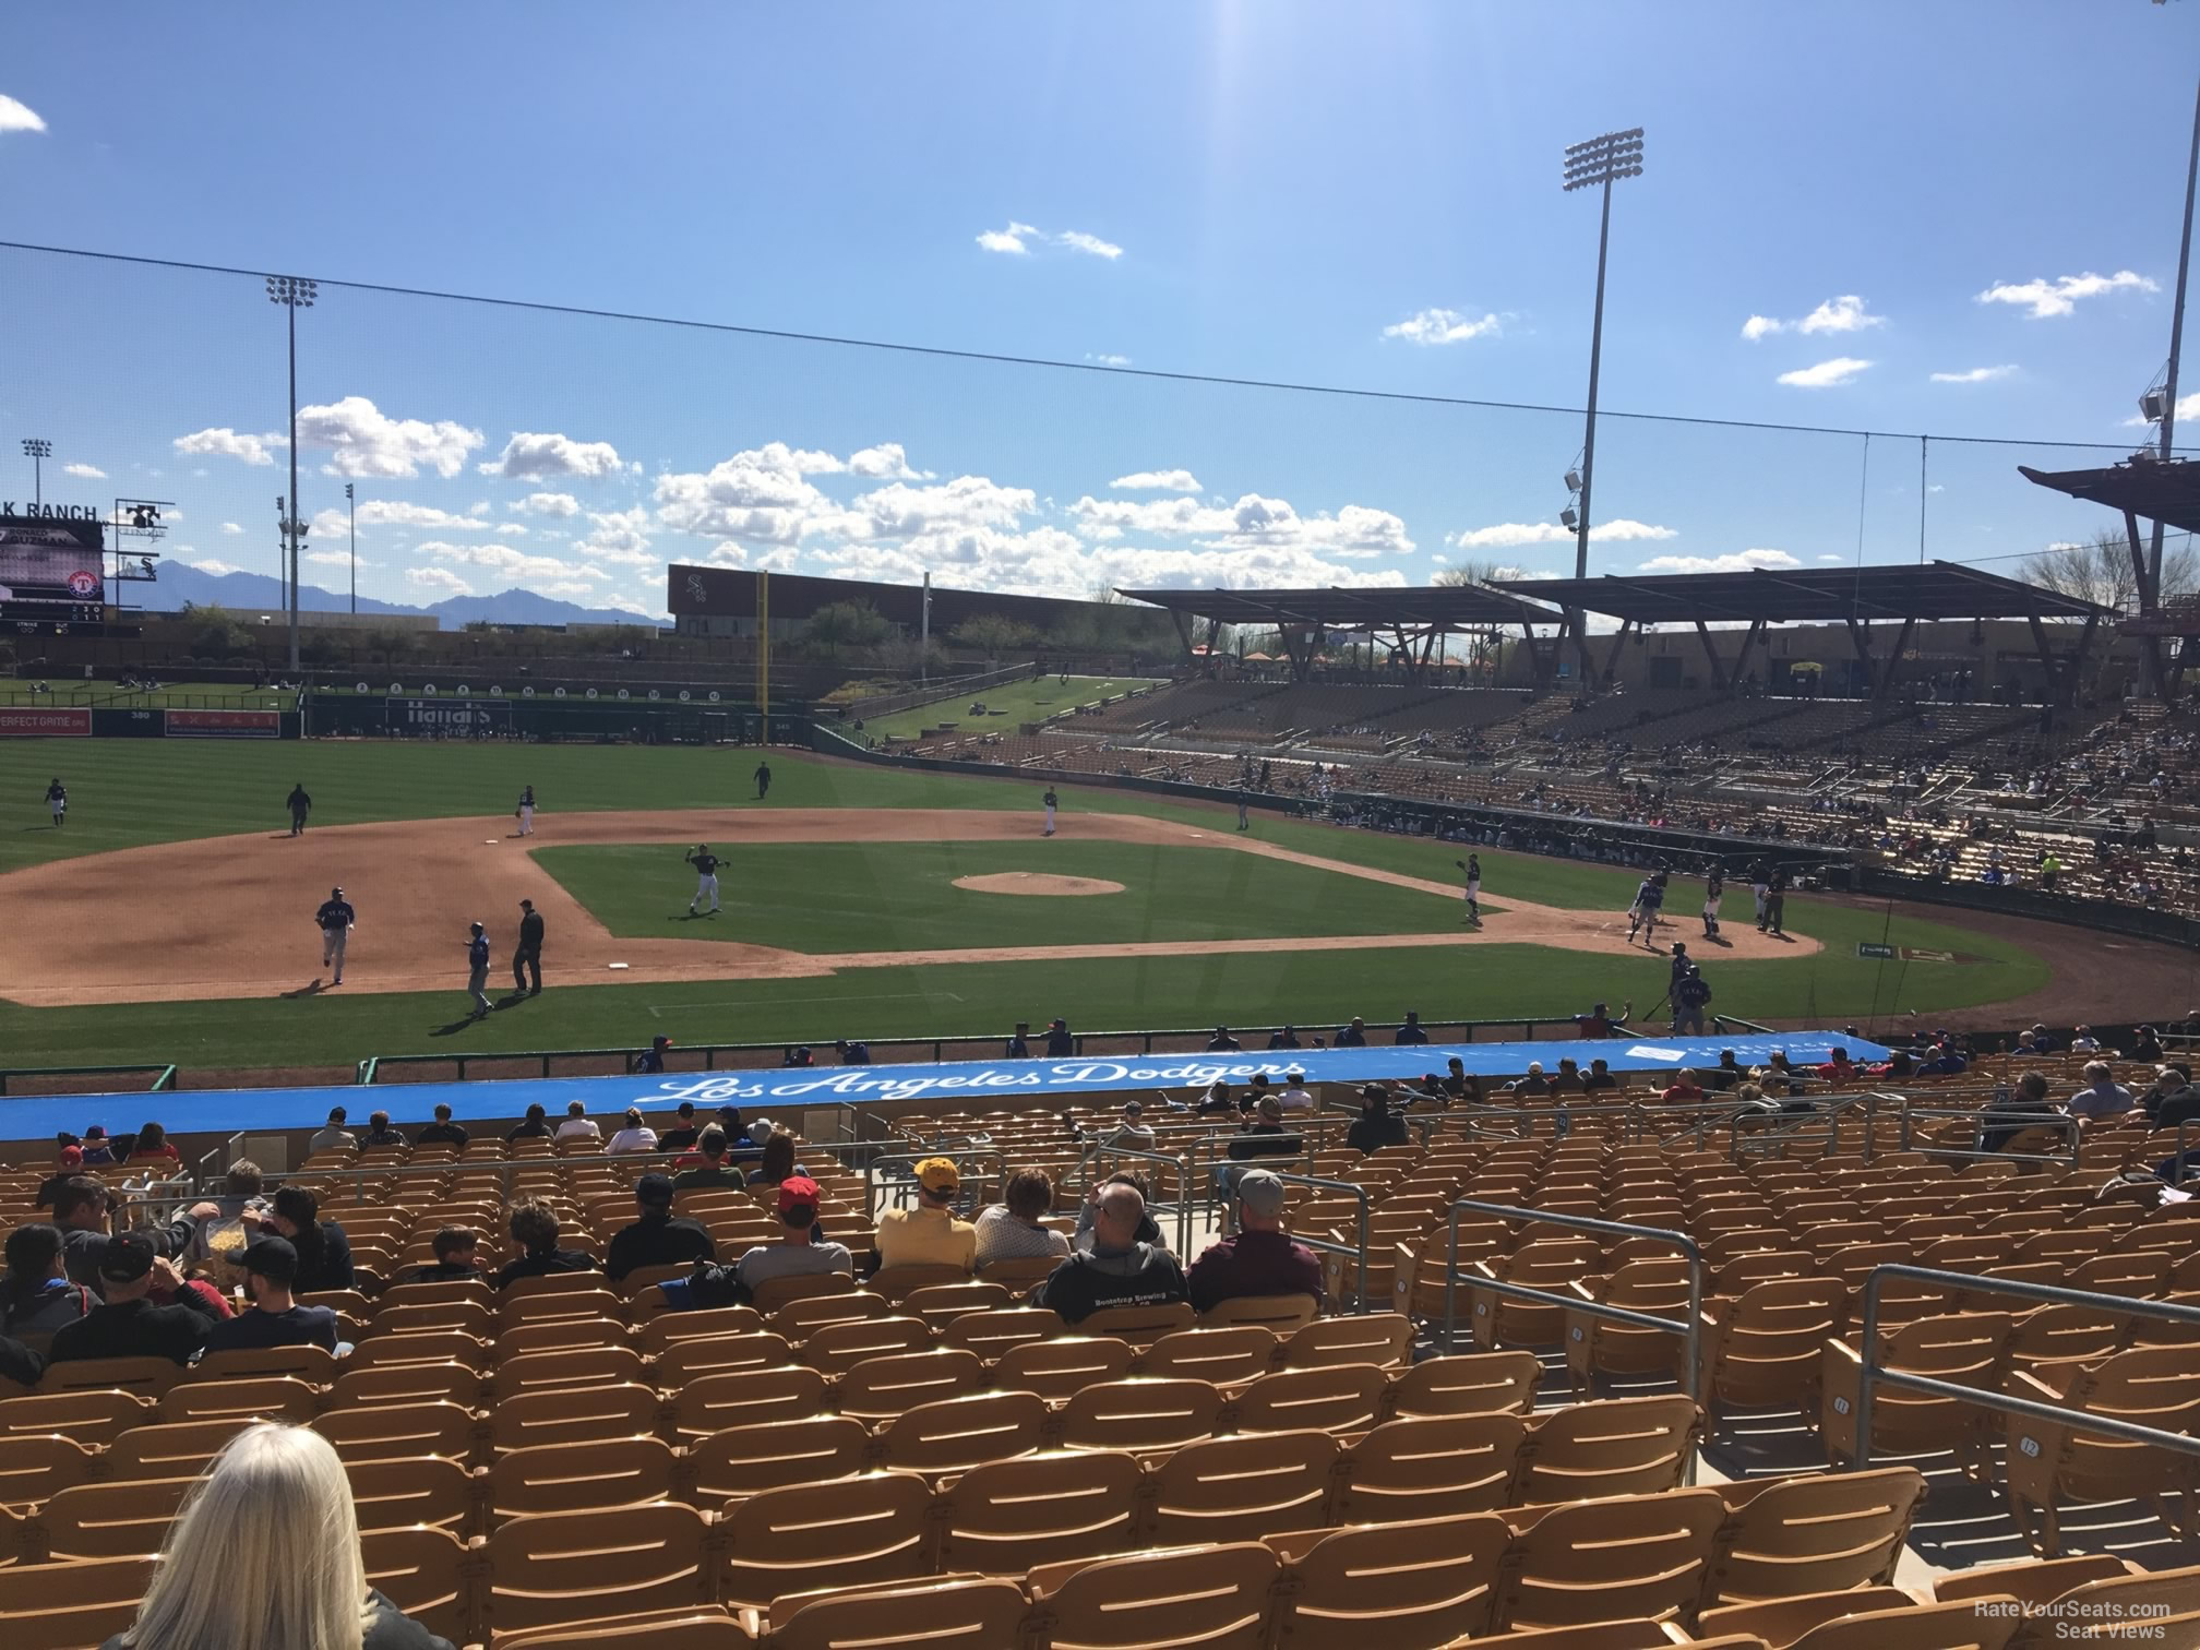
[[[451,1650],[367,1586],[334,1448],[240,1432],[185,1498],[136,1624],[101,1650]]]

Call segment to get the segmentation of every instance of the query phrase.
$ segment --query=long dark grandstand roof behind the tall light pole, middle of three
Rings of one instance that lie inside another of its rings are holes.
[[[2105,607],[1954,561],[1874,568],[1498,579],[1500,590],[1593,614],[1661,623],[1877,618],[2101,618]]]

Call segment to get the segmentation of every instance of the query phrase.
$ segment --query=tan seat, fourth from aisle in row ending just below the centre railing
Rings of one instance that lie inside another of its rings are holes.
[[[1120,1452],[1027,1454],[972,1467],[937,1503],[944,1573],[1023,1575],[1140,1547],[1137,1461]]]

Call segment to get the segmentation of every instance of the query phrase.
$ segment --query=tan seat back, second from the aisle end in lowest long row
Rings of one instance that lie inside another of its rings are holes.
[[[1507,1514],[1514,1536],[1500,1628],[1676,1619],[1696,1608],[1718,1527],[1716,1489],[1575,1500]],[[1522,1529],[1525,1525],[1525,1529]]]

